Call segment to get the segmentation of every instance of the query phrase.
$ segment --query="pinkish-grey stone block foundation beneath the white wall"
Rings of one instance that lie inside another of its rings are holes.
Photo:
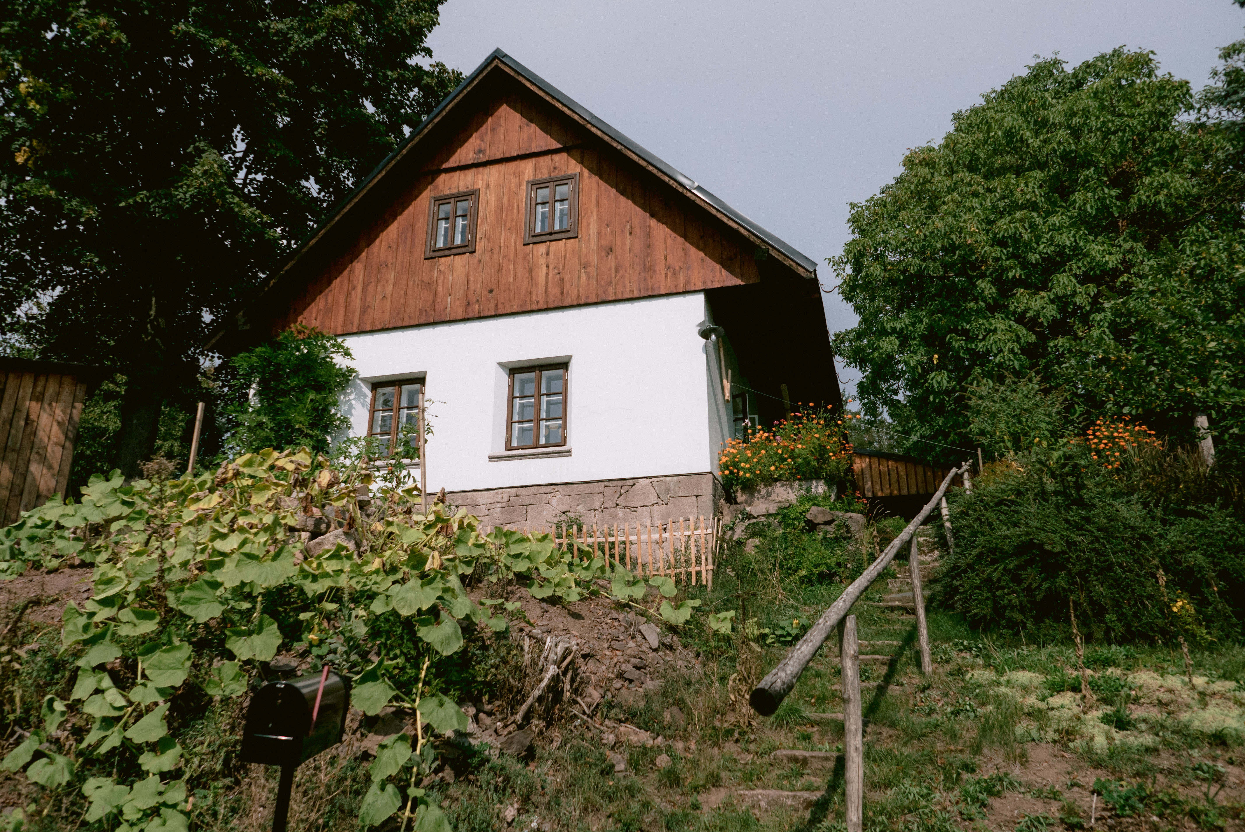
[[[589,527],[605,527],[702,515],[708,520],[722,499],[722,488],[712,474],[681,474],[453,491],[446,496],[451,505],[467,509],[486,526],[547,526],[575,519]]]

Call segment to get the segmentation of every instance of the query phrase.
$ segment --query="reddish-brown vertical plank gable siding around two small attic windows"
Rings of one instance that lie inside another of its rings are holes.
[[[524,245],[527,182],[579,174],[579,233]],[[425,259],[433,195],[479,188],[476,251]],[[753,284],[754,246],[534,95],[512,88],[430,155],[276,331],[334,335]]]

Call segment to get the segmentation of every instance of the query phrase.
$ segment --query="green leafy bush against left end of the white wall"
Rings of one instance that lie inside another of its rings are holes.
[[[310,448],[324,453],[334,434],[350,425],[340,398],[355,373],[341,338],[295,325],[273,341],[234,356],[237,422],[230,444],[239,451]]]

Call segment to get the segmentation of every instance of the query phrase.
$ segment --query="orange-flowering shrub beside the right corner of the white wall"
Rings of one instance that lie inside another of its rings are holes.
[[[847,417],[850,418],[850,417]],[[772,430],[752,429],[726,443],[718,458],[722,485],[735,491],[783,480],[837,483],[852,464],[843,418],[803,405]]]

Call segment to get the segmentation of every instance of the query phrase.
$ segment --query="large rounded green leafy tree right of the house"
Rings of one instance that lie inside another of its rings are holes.
[[[964,444],[969,386],[1037,373],[1073,420],[1245,427],[1245,182],[1226,122],[1123,49],[1038,61],[952,122],[853,205],[830,261],[860,316],[834,342],[864,371],[865,412]]]

